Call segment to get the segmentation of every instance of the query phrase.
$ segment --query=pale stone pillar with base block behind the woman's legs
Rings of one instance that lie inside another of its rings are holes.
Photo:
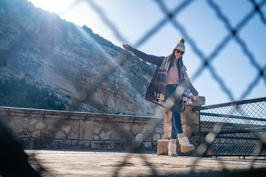
[[[198,147],[198,140],[194,140],[192,132],[199,131],[199,111],[192,111],[192,108],[201,107],[205,104],[205,97],[200,97],[196,102],[192,104],[186,104],[185,111],[181,113],[181,123],[184,135],[189,138],[189,140]],[[167,155],[168,154],[168,143],[171,136],[171,116],[172,112],[169,110],[164,115],[164,139],[159,140],[157,143],[157,155]],[[180,154],[180,145],[177,142],[177,153]]]

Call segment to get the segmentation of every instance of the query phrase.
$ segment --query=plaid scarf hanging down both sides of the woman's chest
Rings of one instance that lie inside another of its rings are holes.
[[[156,81],[156,91],[155,96],[159,99],[160,102],[164,102],[165,99],[165,87],[166,87],[166,78],[168,73],[168,68],[170,65],[170,57],[165,57],[158,72],[158,78]],[[186,103],[192,103],[191,101],[191,92],[189,90],[189,78],[185,71],[185,66],[183,65],[180,70],[179,83],[180,85],[177,87],[179,93],[178,100],[184,101]]]

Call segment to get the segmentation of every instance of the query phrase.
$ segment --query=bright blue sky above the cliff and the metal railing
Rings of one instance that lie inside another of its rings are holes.
[[[57,13],[62,19],[73,22],[79,26],[87,25],[94,33],[110,40],[122,48],[124,42],[120,41],[112,30],[102,21],[98,13],[90,7],[89,3],[82,2],[76,6],[73,0],[30,0],[35,7],[43,8]],[[155,1],[151,0],[97,0],[93,1],[100,7],[107,19],[115,25],[120,34],[127,40],[126,43],[134,46],[143,35],[165,18],[165,14]],[[184,1],[162,1],[171,11]],[[236,27],[239,22],[249,14],[253,6],[245,0],[213,1],[222,14],[229,19],[231,26]],[[261,1],[256,1],[257,3]],[[266,17],[266,3],[261,8]],[[197,0],[183,8],[174,17],[182,25],[187,35],[194,40],[197,48],[208,57],[221,40],[229,35],[224,23],[219,20],[215,11],[210,8],[207,1]],[[165,56],[171,52],[179,37],[183,36],[169,21],[154,35],[148,38],[137,49],[147,54]],[[259,67],[266,65],[266,24],[258,14],[254,15],[248,23],[241,28],[238,36],[246,43],[248,51],[252,53]],[[202,60],[195,54],[189,42],[185,42],[186,53],[183,56],[188,75],[192,78],[200,67]],[[243,93],[258,75],[258,70],[251,64],[236,40],[230,39],[227,45],[211,61],[216,74],[223,80],[227,89],[233,94],[234,100],[266,97],[266,76],[260,77],[251,92],[243,97]],[[264,71],[266,73],[266,71]],[[264,74],[266,75],[266,74]],[[233,101],[222,89],[209,69],[205,68],[192,83],[200,93],[206,97],[206,105]]]

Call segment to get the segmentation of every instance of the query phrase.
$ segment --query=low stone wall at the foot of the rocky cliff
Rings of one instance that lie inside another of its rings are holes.
[[[0,107],[0,121],[26,149],[156,150],[163,118]]]

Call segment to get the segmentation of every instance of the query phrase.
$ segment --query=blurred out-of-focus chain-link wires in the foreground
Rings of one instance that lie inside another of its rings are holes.
[[[249,12],[242,20],[240,20],[240,22],[236,26],[232,26],[229,22],[229,19],[227,19],[225,14],[223,14],[223,12],[219,8],[219,6],[213,0],[206,0],[209,8],[211,8],[215,12],[215,14],[217,16],[217,20],[220,20],[225,25],[226,29],[229,31],[229,33],[223,37],[223,39],[218,43],[216,48],[209,55],[205,55],[201,52],[201,50],[197,47],[194,39],[187,34],[186,30],[182,27],[182,25],[179,22],[177,22],[174,18],[174,17],[178,16],[178,14],[181,11],[184,11],[194,1],[195,0],[183,1],[180,4],[178,4],[174,8],[174,10],[169,11],[167,9],[164,1],[154,0],[154,2],[160,7],[162,12],[165,14],[165,17],[162,20],[159,20],[158,23],[153,28],[149,29],[142,37],[140,37],[140,39],[137,40],[137,42],[135,44],[131,44],[131,45],[134,48],[137,48],[137,47],[143,45],[143,43],[145,43],[149,38],[153,37],[168,22],[172,23],[173,26],[176,28],[176,30],[179,31],[182,34],[182,36],[186,39],[186,41],[192,46],[192,50],[202,61],[201,65],[199,66],[199,68],[197,69],[195,74],[193,75],[192,79],[193,80],[197,79],[198,77],[200,77],[200,75],[202,74],[202,72],[204,70],[209,69],[211,76],[219,84],[222,91],[230,98],[231,101],[235,101],[236,100],[235,96],[230,91],[230,89],[224,84],[222,77],[216,73],[215,69],[213,68],[213,66],[211,64],[213,61],[215,61],[215,57],[226,47],[226,45],[229,43],[229,41],[232,39],[235,39],[237,41],[237,43],[239,44],[239,46],[242,48],[243,53],[246,54],[246,56],[248,57],[250,64],[257,70],[256,77],[254,78],[254,80],[252,82],[250,82],[250,84],[247,86],[245,92],[241,96],[241,100],[245,99],[247,97],[247,95],[257,85],[257,83],[260,79],[263,79],[265,84],[266,84],[266,75],[265,75],[266,65],[260,66],[256,62],[255,57],[252,54],[251,50],[248,49],[245,41],[238,35],[238,33],[248,23],[248,21],[250,21],[252,18],[254,18],[254,16],[256,14],[259,15],[262,24],[264,24],[266,27],[265,16],[261,11],[261,9],[265,5],[266,1],[261,1],[260,3],[256,3],[254,0],[250,0],[250,4],[251,4],[251,6],[253,6],[252,11]],[[94,1],[86,1],[86,2],[88,3],[88,5],[91,8],[93,8],[98,13],[98,15],[100,16],[100,18],[102,19],[102,21],[104,22],[106,27],[108,27],[112,31],[112,33],[115,34],[115,36],[121,42],[128,43],[126,38],[124,36],[122,36],[121,32],[119,31],[119,27],[114,25],[111,22],[111,20],[108,19],[108,17],[105,15],[104,11]],[[245,111],[246,111],[245,109],[243,110],[241,107],[235,106],[235,107],[231,108],[230,110],[227,110],[227,113],[228,112],[238,112],[238,113],[242,112],[242,114],[245,114],[244,113]],[[228,117],[225,116],[225,118],[228,118]],[[226,119],[226,121],[228,121],[228,120]],[[207,146],[210,146],[213,143],[213,141],[215,140],[215,137],[219,134],[219,132],[221,130],[222,130],[222,124],[215,124],[212,127],[212,129],[210,129],[211,134],[209,134],[209,139],[207,139],[208,142],[202,143],[199,146],[199,148],[197,149],[197,152],[200,156],[204,155],[204,153],[207,151]],[[208,138],[208,135],[207,135],[207,138]],[[258,155],[259,152],[257,152],[257,151],[259,151],[261,149],[261,146],[265,146],[265,142],[261,141],[261,137],[258,137],[258,140],[260,140],[261,144],[257,145],[256,146],[257,148],[253,147],[252,151],[254,151],[254,155]],[[136,152],[136,150],[137,150],[137,148],[134,149],[134,152]],[[126,161],[127,160],[125,159],[124,164],[126,164]],[[198,161],[199,161],[199,159],[195,161],[195,164]],[[152,167],[152,165],[150,165],[147,161],[145,161],[145,163],[146,163],[146,165],[149,165],[152,168],[153,174],[156,176],[157,175],[156,170]],[[192,168],[192,172],[194,170],[194,165]],[[221,165],[224,166],[222,164],[222,162],[221,162]],[[123,164],[121,166],[123,166]],[[251,167],[252,167],[252,164],[251,164]],[[119,169],[120,168],[118,168],[118,170],[116,171],[115,176],[117,176]],[[190,173],[190,175],[193,174],[192,172]]]

